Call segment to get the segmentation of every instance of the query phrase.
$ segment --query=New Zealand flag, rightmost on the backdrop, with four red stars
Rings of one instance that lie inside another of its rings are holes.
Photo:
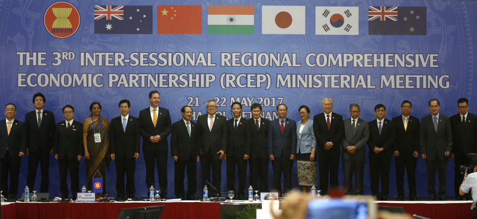
[[[369,35],[426,35],[426,7],[369,6]]]

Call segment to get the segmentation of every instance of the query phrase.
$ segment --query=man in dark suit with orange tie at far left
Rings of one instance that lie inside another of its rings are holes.
[[[26,152],[26,135],[23,122],[15,120],[16,106],[5,105],[5,117],[0,125],[0,189],[5,198],[15,199],[18,193],[18,175],[21,157]],[[10,187],[8,188],[8,173]]]

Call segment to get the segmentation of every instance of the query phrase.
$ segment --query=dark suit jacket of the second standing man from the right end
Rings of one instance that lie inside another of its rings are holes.
[[[452,151],[452,128],[449,117],[439,114],[437,133],[431,114],[421,119],[421,153],[430,160],[447,160],[446,151]]]

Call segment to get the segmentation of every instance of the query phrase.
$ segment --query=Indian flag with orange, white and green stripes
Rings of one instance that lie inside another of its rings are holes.
[[[209,5],[209,34],[253,34],[253,5]]]

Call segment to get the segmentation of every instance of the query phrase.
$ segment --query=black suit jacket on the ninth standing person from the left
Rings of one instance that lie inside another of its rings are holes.
[[[228,137],[227,137],[227,156],[235,156],[237,158],[243,159],[243,154],[245,154],[245,126],[247,124],[247,119],[240,117],[240,120],[237,124],[237,129],[235,126],[235,118],[229,119],[227,121],[228,127]],[[249,154],[250,155],[250,154]]]

